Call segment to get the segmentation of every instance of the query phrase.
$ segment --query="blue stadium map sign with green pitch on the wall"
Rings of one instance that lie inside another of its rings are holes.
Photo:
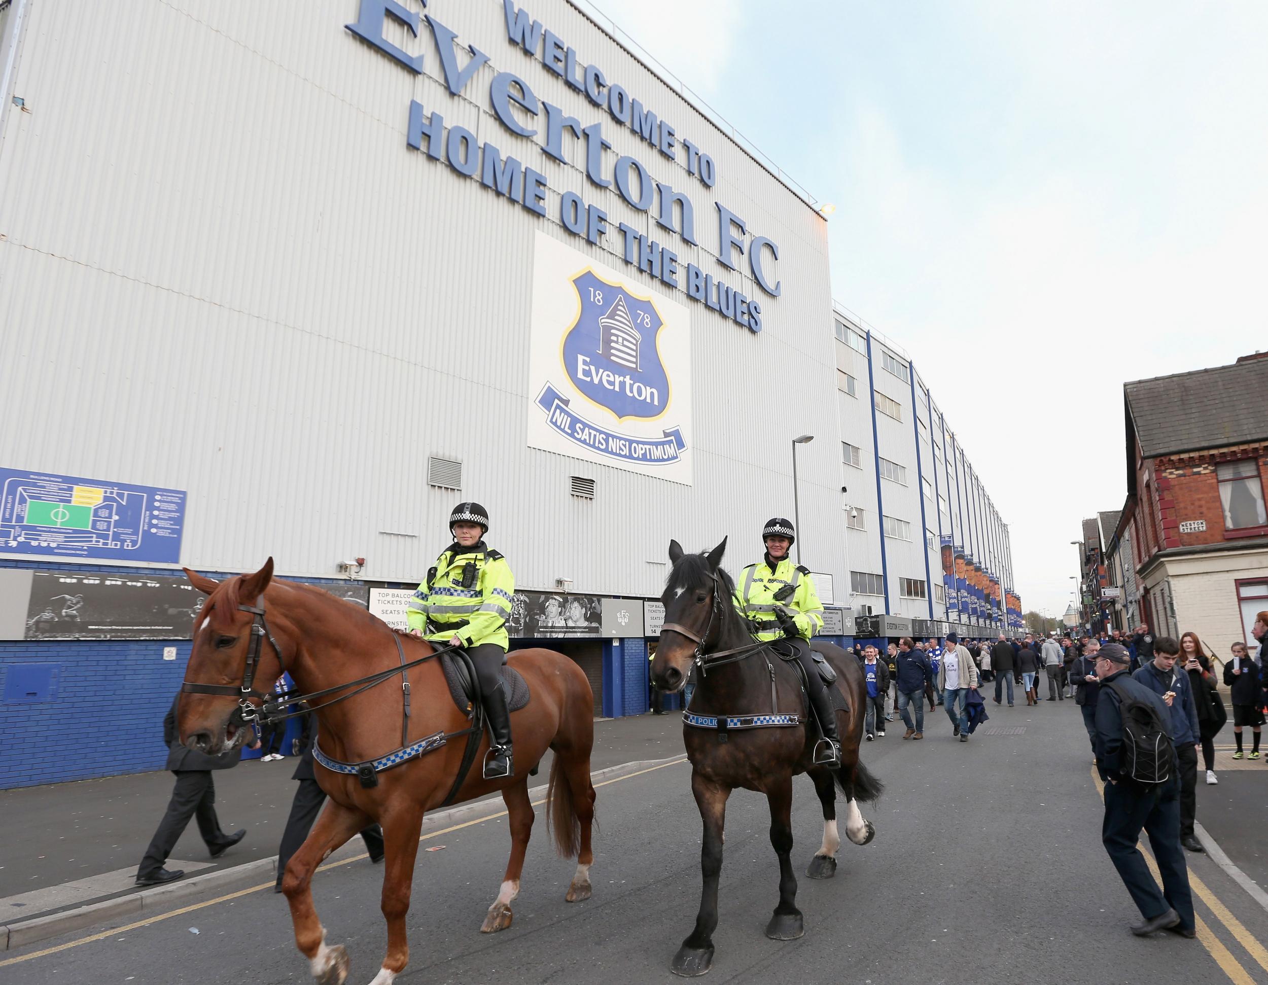
[[[178,564],[185,493],[0,469],[0,553]]]

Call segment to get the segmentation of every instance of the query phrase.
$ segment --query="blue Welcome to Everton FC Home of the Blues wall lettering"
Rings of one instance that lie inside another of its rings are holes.
[[[391,19],[415,38],[424,22],[430,29],[440,58],[444,82],[450,95],[460,95],[474,75],[489,61],[489,56],[474,44],[458,44],[458,34],[413,6],[426,8],[427,0],[360,0],[358,18],[347,29],[365,43],[383,52],[404,68],[421,75],[425,55],[411,53],[384,37],[384,23]],[[515,6],[512,0],[502,0],[506,16],[507,43],[525,56],[536,58],[563,82],[586,98],[612,122],[631,129],[657,153],[680,164],[683,174],[711,189],[718,180],[713,158],[691,141],[678,137],[677,131],[650,112],[639,99],[623,86],[607,79],[595,65],[582,65],[577,52],[553,32]],[[459,65],[459,49],[465,63]],[[696,238],[696,209],[690,195],[664,181],[656,181],[637,157],[620,155],[609,169],[604,151],[611,141],[604,137],[604,122],[582,126],[582,120],[569,117],[559,106],[540,99],[533,86],[510,71],[496,72],[488,87],[489,105],[498,122],[512,134],[535,139],[540,150],[566,165],[585,170],[586,179],[596,188],[614,188],[634,209],[648,212],[656,224],[667,233],[678,236],[692,246]],[[418,100],[410,103],[407,143],[432,161],[446,164],[467,177],[473,177],[508,200],[536,216],[547,216],[547,179],[536,169],[506,156],[488,141],[481,143],[465,127],[445,126],[443,113],[425,108]],[[683,153],[678,155],[678,148]],[[775,274],[780,259],[779,246],[766,236],[751,240],[748,224],[720,202],[714,202],[718,222],[718,264],[739,271],[739,262],[747,255],[748,271],[762,292],[780,297],[782,283]],[[568,232],[585,237],[591,243],[615,235],[607,213],[597,205],[586,204],[576,191],[564,191],[559,200],[559,221]],[[704,222],[704,219],[701,219]],[[695,264],[680,266],[678,255],[668,246],[640,233],[634,227],[619,222],[621,256],[663,284],[686,292],[692,300],[732,318],[753,332],[762,330],[762,306],[706,274]],[[739,262],[737,262],[737,259]]]

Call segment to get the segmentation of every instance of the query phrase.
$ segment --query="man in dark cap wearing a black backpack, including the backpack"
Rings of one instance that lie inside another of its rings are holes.
[[[1144,923],[1131,932],[1196,936],[1193,896],[1181,848],[1181,782],[1172,716],[1154,691],[1127,673],[1131,655],[1111,643],[1096,655],[1097,768],[1104,780],[1106,814],[1101,840],[1136,901]],[[1144,829],[1163,873],[1163,889],[1136,848]]]

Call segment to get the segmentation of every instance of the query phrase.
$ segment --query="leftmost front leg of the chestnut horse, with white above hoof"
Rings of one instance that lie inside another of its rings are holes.
[[[299,846],[281,880],[281,891],[290,904],[290,920],[295,928],[295,947],[308,958],[308,970],[318,985],[344,985],[347,977],[347,951],[342,944],[327,947],[326,928],[313,906],[312,877],[317,866],[344,842],[369,824],[361,811],[330,800],[326,810]]]

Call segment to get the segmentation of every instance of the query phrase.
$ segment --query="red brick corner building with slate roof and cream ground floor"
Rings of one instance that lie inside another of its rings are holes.
[[[1224,659],[1268,610],[1268,352],[1123,385],[1141,619]]]

